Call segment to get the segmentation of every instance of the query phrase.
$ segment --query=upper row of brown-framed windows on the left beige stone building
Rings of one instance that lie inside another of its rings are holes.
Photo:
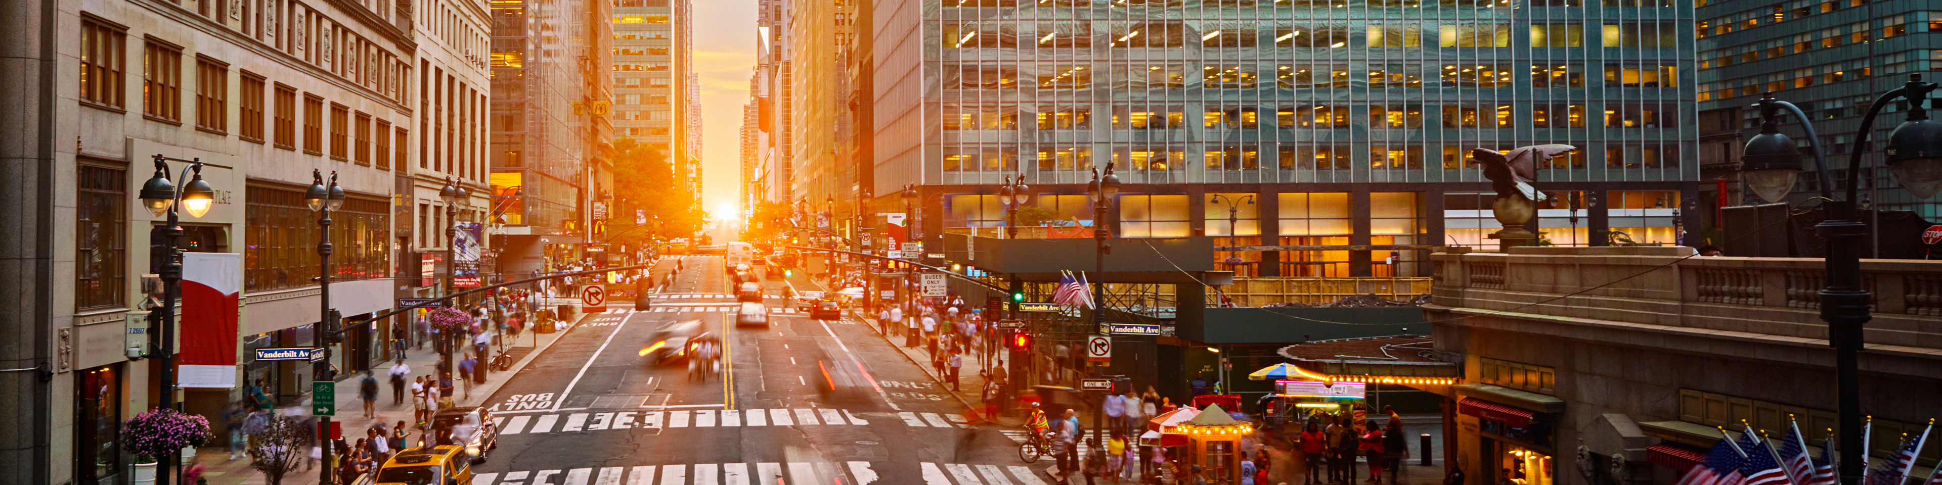
[[[101,109],[126,109],[126,48],[128,35],[122,27],[87,17],[82,21],[82,76],[80,99]],[[196,54],[194,85],[183,81],[183,48],[179,45],[146,37],[142,41],[142,114],[150,120],[181,124],[184,89],[194,99],[192,124],[202,132],[229,134],[245,142],[272,144],[282,149],[297,149],[297,89],[285,83],[272,83],[262,74],[235,70],[237,99],[229,97],[231,68],[227,62]],[[274,85],[274,87],[272,87]],[[272,93],[274,91],[274,93]],[[231,126],[231,107],[235,126]],[[266,122],[268,118],[268,122]],[[328,118],[328,136],[326,136]],[[357,165],[377,165],[390,169],[392,159],[404,161],[406,128],[367,113],[353,113],[346,105],[326,103],[315,93],[303,95],[303,151],[311,155],[330,155],[338,161]],[[396,144],[392,142],[396,140]],[[328,144],[328,151],[326,151]],[[396,153],[392,151],[396,147]]]

